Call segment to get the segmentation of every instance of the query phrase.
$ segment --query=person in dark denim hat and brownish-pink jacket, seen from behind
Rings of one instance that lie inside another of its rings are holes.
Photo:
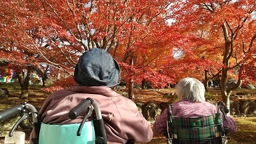
[[[83,117],[69,119],[67,115],[83,99],[90,97],[101,109],[108,143],[151,141],[151,126],[135,103],[111,89],[120,83],[120,77],[120,67],[107,51],[99,48],[86,51],[75,66],[77,85],[55,91],[45,99],[39,111],[42,122],[54,125],[81,123]],[[33,137],[35,132],[32,131],[30,138]]]

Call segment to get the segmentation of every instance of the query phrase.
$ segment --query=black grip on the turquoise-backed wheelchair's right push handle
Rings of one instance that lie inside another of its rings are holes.
[[[77,118],[79,115],[81,115],[81,113],[83,113],[83,111],[85,111],[91,104],[93,103],[93,99],[91,98],[87,98],[87,99],[83,99],[83,101],[81,103],[79,103],[79,105],[75,106],[71,111],[69,111],[69,118],[70,119],[75,119]]]

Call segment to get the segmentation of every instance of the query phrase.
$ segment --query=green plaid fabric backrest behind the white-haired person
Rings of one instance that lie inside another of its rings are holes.
[[[221,143],[224,131],[221,113],[194,118],[169,116],[168,125],[173,143]]]

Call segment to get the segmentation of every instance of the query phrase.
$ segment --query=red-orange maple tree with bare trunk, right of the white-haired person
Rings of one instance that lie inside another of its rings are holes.
[[[205,75],[202,81],[219,81],[229,106],[232,90],[253,71],[249,67],[256,60],[255,1],[173,1],[171,9],[173,27],[184,36],[176,45],[183,51],[181,60]],[[236,85],[228,87],[228,79],[237,79]]]

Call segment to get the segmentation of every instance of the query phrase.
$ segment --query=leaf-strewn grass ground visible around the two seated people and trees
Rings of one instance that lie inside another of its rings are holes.
[[[41,91],[40,85],[30,85],[29,86],[29,98],[28,99],[19,99],[19,95],[21,94],[21,88],[18,83],[0,83],[0,88],[7,88],[10,96],[7,99],[0,99],[0,111],[3,109],[7,109],[14,105],[17,105],[22,102],[27,102],[35,107],[41,107],[45,97],[49,95],[49,93],[44,93]],[[163,97],[166,93],[171,93],[173,89],[135,89],[134,101],[155,101],[156,103],[161,103],[169,101],[168,98]],[[245,91],[245,89],[239,89],[237,91]],[[247,91],[247,90],[246,90]],[[212,93],[219,93],[219,90],[212,91]],[[234,92],[235,93],[235,92]],[[247,99],[255,99],[256,91],[251,90],[251,97]],[[216,95],[216,99],[220,99],[220,95]],[[228,136],[231,137],[229,141],[230,144],[256,144],[256,117],[234,117],[237,122],[237,132],[229,133]],[[149,143],[161,144],[166,143],[165,137],[161,135],[154,135],[153,139]]]

